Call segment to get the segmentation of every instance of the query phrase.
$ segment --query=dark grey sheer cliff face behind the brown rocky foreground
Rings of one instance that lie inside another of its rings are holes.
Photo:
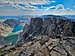
[[[25,25],[19,35],[19,41],[28,41],[39,35],[48,35],[53,38],[58,36],[74,36],[75,23],[63,17],[32,18],[29,25]]]

